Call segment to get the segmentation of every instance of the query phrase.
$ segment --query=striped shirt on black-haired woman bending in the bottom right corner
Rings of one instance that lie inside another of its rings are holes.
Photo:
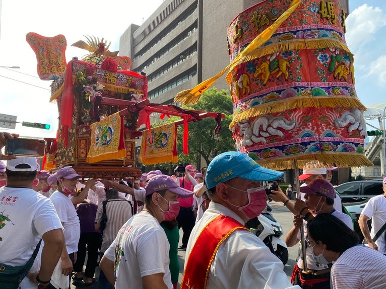
[[[383,289],[386,256],[369,247],[354,246],[338,258],[331,269],[335,289]]]

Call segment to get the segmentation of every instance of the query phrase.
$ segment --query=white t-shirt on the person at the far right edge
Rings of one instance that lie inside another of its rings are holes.
[[[386,223],[386,198],[384,195],[372,197],[368,200],[361,214],[372,219],[370,236],[373,238],[380,228],[382,228],[382,226]],[[386,241],[384,239],[384,234],[386,233],[383,232],[375,241],[375,244],[378,246],[378,251],[382,254],[386,254]]]

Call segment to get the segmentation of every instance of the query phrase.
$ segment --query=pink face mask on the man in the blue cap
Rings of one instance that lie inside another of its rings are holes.
[[[230,187],[240,191],[247,192],[249,202],[248,204],[242,207],[233,205],[232,203],[228,202],[229,204],[231,204],[234,207],[237,207],[238,210],[249,220],[260,216],[260,214],[267,206],[267,194],[263,186],[249,188],[247,190],[238,189],[232,186]]]

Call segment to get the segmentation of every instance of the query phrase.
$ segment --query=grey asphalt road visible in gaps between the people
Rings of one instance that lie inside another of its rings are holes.
[[[280,225],[283,228],[284,235],[281,237],[282,240],[284,240],[284,236],[288,233],[288,231],[292,228],[293,223],[293,214],[288,211],[286,207],[283,206],[282,203],[276,203],[271,202],[270,203],[272,210],[273,210],[273,216],[274,218],[280,223]],[[182,229],[180,230],[180,244],[181,245],[181,238],[182,238]],[[284,266],[284,272],[287,274],[288,279],[291,278],[293,265],[296,263],[296,258],[298,254],[298,246],[294,246],[292,248],[288,248],[289,258],[287,264]],[[185,251],[178,251],[178,257],[179,257],[179,264],[180,264],[180,274],[179,274],[179,282],[182,280],[182,273],[183,273],[183,264],[185,261]],[[88,288],[99,288],[98,284],[98,276],[99,276],[99,267],[96,267],[95,270],[95,278],[96,281],[91,286],[87,286]],[[73,282],[71,284],[71,288],[81,288],[85,287],[83,282]]]

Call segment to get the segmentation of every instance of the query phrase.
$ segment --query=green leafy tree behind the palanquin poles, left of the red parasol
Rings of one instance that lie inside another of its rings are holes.
[[[179,162],[195,163],[198,166],[209,165],[210,161],[216,155],[234,150],[234,141],[232,132],[229,130],[229,124],[232,121],[233,105],[229,92],[225,89],[217,90],[212,88],[203,93],[200,101],[195,105],[183,106],[184,109],[191,109],[204,112],[223,113],[225,118],[221,120],[221,132],[215,135],[214,129],[217,126],[214,118],[206,118],[199,122],[190,122],[188,124],[189,154],[184,155],[182,149],[183,125],[177,128],[177,152]],[[165,121],[153,123],[152,127],[179,120],[178,117],[171,117]],[[201,164],[203,157],[206,164]],[[160,163],[156,167],[173,169],[176,164]]]

